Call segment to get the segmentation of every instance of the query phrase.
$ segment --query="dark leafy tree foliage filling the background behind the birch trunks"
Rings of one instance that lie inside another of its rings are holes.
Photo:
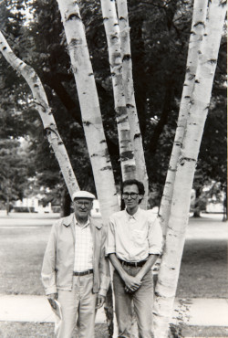
[[[79,1],[95,73],[103,123],[117,185],[120,182],[118,137],[107,41],[100,3]],[[29,16],[25,16],[25,10]],[[3,0],[1,29],[19,58],[42,80],[57,128],[82,189],[95,192],[81,126],[78,95],[70,69],[67,42],[56,0]],[[150,206],[158,206],[169,165],[184,80],[192,24],[192,3],[182,0],[129,1],[131,55],[135,96],[150,179]],[[212,104],[202,138],[194,187],[212,180],[225,185],[226,172],[226,41],[223,39],[212,91]],[[42,122],[24,79],[0,58],[0,138],[29,141],[28,177],[54,189],[63,179],[45,139]],[[62,189],[62,188],[61,188]],[[59,197],[60,198],[60,197]]]

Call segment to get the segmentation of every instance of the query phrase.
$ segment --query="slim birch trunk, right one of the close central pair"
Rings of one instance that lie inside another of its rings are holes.
[[[123,86],[126,100],[126,107],[130,123],[130,137],[133,144],[136,176],[145,187],[145,195],[140,207],[147,209],[148,202],[148,174],[140,133],[140,122],[135,102],[134,84],[132,76],[132,60],[130,51],[130,26],[127,0],[117,0],[119,17],[119,38],[122,58]]]

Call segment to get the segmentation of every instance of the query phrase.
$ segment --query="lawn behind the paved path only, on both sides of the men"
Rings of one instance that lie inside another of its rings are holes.
[[[40,280],[50,226],[0,228],[0,293],[44,294]],[[227,240],[186,240],[177,297],[227,298]]]

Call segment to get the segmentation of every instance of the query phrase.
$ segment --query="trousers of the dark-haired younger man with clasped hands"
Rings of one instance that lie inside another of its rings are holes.
[[[130,275],[136,276],[141,268],[122,266]],[[152,303],[153,278],[151,270],[143,277],[140,289],[133,293],[125,291],[125,284],[115,270],[113,275],[116,316],[119,327],[119,337],[131,338],[132,302],[136,314],[139,337],[151,338],[152,334]]]

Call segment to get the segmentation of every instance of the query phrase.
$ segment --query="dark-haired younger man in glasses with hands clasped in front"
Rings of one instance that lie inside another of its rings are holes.
[[[109,219],[106,254],[115,268],[113,286],[119,337],[131,338],[132,301],[140,338],[152,337],[153,279],[151,268],[161,254],[162,233],[150,213],[140,209],[144,186],[137,180],[122,185],[126,209]]]

